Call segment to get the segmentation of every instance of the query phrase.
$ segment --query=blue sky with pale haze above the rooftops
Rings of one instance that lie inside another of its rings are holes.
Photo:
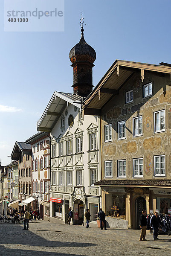
[[[4,32],[0,0],[2,165],[11,162],[16,141],[37,133],[54,91],[73,92],[69,52],[81,37],[81,12],[85,41],[97,55],[93,85],[116,59],[171,63],[171,0],[65,0],[64,5],[64,32]]]

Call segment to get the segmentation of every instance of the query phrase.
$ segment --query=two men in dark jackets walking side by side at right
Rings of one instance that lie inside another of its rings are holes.
[[[150,227],[153,229],[154,240],[158,240],[158,231],[161,224],[162,223],[161,223],[160,217],[158,216],[158,212],[154,212],[154,215],[151,217],[151,220],[150,220]],[[147,218],[146,218],[145,210],[142,211],[142,215],[140,215],[139,217],[139,226],[141,229],[139,241],[147,241],[147,239],[145,239],[146,230],[147,230]]]

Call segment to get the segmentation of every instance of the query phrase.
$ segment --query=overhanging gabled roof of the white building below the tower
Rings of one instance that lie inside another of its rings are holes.
[[[55,123],[60,118],[62,112],[66,108],[67,104],[70,103],[78,108],[81,105],[77,103],[81,100],[81,96],[72,93],[61,93],[55,91],[50,99],[41,119],[37,122],[38,131],[52,131]]]

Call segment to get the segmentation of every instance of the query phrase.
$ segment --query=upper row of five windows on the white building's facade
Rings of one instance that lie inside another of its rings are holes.
[[[66,141],[66,154],[72,154],[72,140]],[[82,137],[75,139],[75,153],[83,152]],[[89,150],[97,149],[96,133],[89,134]],[[64,155],[64,142],[58,143],[58,156]],[[57,145],[52,145],[52,157],[57,156]]]

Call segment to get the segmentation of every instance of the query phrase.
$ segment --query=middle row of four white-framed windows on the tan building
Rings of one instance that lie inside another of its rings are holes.
[[[126,138],[125,120],[118,122],[118,140]],[[142,116],[133,118],[133,136],[142,135]],[[165,110],[154,112],[154,132],[165,131]],[[104,125],[104,141],[112,140],[112,125]]]

